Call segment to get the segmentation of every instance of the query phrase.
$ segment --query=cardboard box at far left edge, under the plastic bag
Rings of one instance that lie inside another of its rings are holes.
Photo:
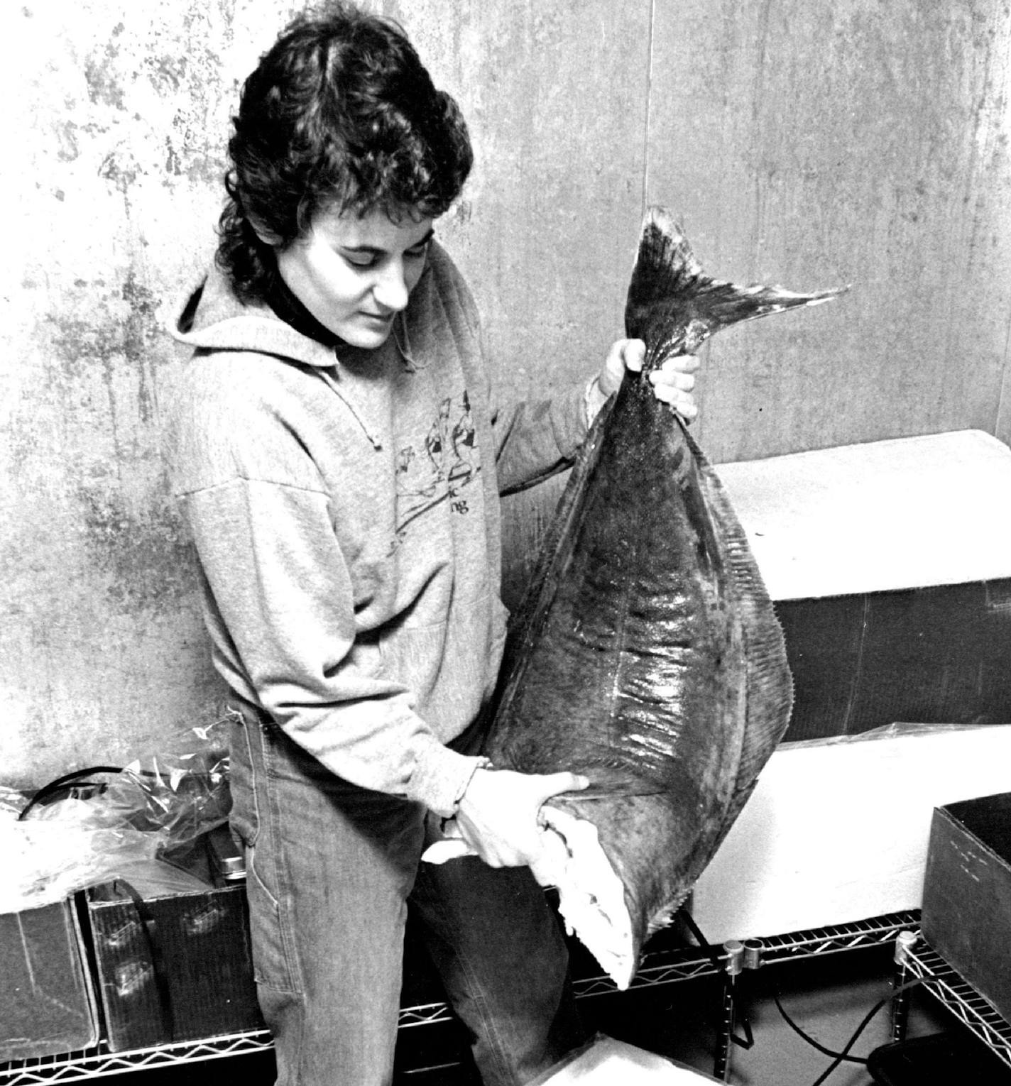
[[[73,901],[0,913],[0,1063],[96,1044],[86,961]]]

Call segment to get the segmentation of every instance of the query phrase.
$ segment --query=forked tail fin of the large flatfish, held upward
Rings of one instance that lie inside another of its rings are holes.
[[[666,207],[646,212],[624,310],[625,332],[647,344],[646,369],[692,354],[721,328],[817,305],[848,290],[797,294],[782,287],[742,287],[703,274],[681,225]]]

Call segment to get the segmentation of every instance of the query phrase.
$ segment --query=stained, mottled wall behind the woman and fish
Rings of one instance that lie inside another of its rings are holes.
[[[162,328],[206,264],[239,81],[285,0],[0,11],[0,783],[214,711],[159,445]],[[375,0],[468,116],[441,236],[506,392],[589,374],[646,202],[705,267],[845,300],[704,351],[719,460],[978,427],[1011,438],[1011,14],[997,0]],[[515,595],[554,494],[509,508]]]

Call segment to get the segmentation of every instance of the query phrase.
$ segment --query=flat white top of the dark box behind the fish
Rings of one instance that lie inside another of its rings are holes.
[[[716,470],[773,599],[1011,577],[1011,450],[982,430]]]

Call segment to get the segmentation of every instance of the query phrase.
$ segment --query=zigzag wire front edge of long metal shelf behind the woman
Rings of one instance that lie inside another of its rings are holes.
[[[854,950],[860,947],[889,943],[900,931],[919,926],[919,912],[897,912],[872,920],[861,920],[832,927],[793,932],[749,940],[761,949],[761,963],[786,961],[811,955],[832,954],[838,950]],[[719,950],[717,961],[722,969],[726,954]],[[647,952],[642,967],[632,981],[633,988],[654,987],[677,981],[712,976],[720,970],[698,947]],[[574,982],[576,994],[580,997],[597,996],[617,992],[612,981],[593,976]],[[453,1018],[443,1002],[421,1003],[405,1007],[400,1012],[400,1027],[429,1025],[448,1022]],[[214,1037],[207,1040],[174,1045],[159,1045],[154,1048],[137,1049],[129,1052],[110,1052],[104,1044],[81,1052],[45,1057],[0,1063],[0,1086],[35,1086],[41,1083],[75,1082],[97,1078],[103,1075],[138,1071],[143,1068],[170,1066],[193,1060],[208,1060],[224,1056],[239,1056],[271,1047],[270,1035],[262,1030],[255,1033]]]

